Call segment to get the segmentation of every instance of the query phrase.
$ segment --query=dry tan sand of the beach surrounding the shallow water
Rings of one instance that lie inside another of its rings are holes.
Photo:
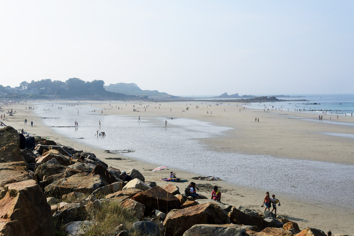
[[[53,101],[53,103],[57,109],[60,101]],[[146,104],[149,107],[145,111],[143,106]],[[45,125],[43,118],[36,113],[36,109],[40,107],[38,101],[32,103],[35,110],[25,109],[28,105],[29,103],[27,105],[2,105],[2,110],[16,110],[14,116],[10,117],[6,114],[6,119],[8,120],[4,121],[4,123],[18,130],[24,128],[25,131],[31,134],[48,137],[60,144],[72,146],[76,150],[93,152],[109,166],[119,168],[121,171],[131,168],[138,169],[145,176],[146,180],[155,181],[161,186],[166,184],[166,182],[158,180],[161,178],[161,173],[164,177],[167,177],[170,171],[174,171],[178,173],[178,176],[183,176],[183,178],[188,180],[192,180],[192,177],[198,176],[195,173],[183,171],[183,166],[179,169],[168,168],[158,173],[152,172],[151,170],[156,168],[156,165],[128,158],[124,154],[110,154],[104,152],[105,149],[95,148],[92,145],[68,138],[61,133],[55,133],[53,128]],[[337,120],[334,115],[324,115],[324,120],[318,122],[318,115],[316,116],[316,114],[288,111],[263,112],[263,110],[258,109],[243,109],[241,104],[236,103],[215,105],[215,103],[205,103],[203,101],[161,104],[149,102],[143,103],[143,105],[139,105],[138,102],[112,102],[111,106],[109,106],[109,102],[100,104],[93,102],[93,105],[100,109],[96,109],[96,112],[92,113],[92,115],[97,115],[97,126],[98,120],[101,120],[100,117],[103,115],[134,115],[136,119],[138,119],[138,116],[141,116],[142,120],[147,116],[155,115],[164,117],[167,120],[167,128],[171,123],[171,119],[169,119],[171,117],[191,118],[232,128],[224,131],[223,135],[218,136],[217,139],[199,139],[199,142],[206,145],[208,149],[216,152],[225,154],[270,155],[289,160],[297,159],[354,165],[353,138],[350,138],[350,136],[330,135],[338,133],[354,135],[353,125],[336,123],[337,121],[353,123],[354,117],[350,116],[341,116]],[[59,106],[61,105],[59,104]],[[62,104],[62,106],[64,108],[65,105]],[[199,106],[199,108],[196,108],[196,106]],[[123,109],[118,109],[118,107]],[[187,107],[190,109],[186,110]],[[133,111],[133,108],[139,111]],[[4,112],[1,112],[1,114],[4,114]],[[77,110],[73,109],[72,115],[78,115]],[[255,122],[255,117],[259,118],[259,122]],[[24,119],[27,119],[27,125],[24,125]],[[35,126],[33,128],[30,127],[32,120]],[[69,125],[73,126],[73,123]],[[165,122],[161,120],[160,125],[164,127]],[[109,130],[105,130],[105,132],[109,134]],[[107,158],[120,158],[121,160]],[[277,185],[277,177],[272,174],[272,169],[274,168],[277,168],[277,166],[272,164],[272,160],[269,161],[269,164],[264,163],[264,172],[269,174],[269,179],[264,179],[264,189],[268,189],[271,194],[272,186]],[[217,172],[218,170],[215,171]],[[239,174],[242,175],[242,171]],[[302,173],[297,174],[301,175]],[[306,176],[303,176],[303,178],[306,178]],[[336,177],[333,176],[333,178]],[[252,186],[232,185],[225,181],[193,181],[197,184],[204,184],[204,187],[200,188],[200,192],[205,196],[209,197],[212,186],[217,184],[222,192],[222,202],[234,206],[241,205],[254,208],[259,211],[263,210],[260,207],[264,197],[263,190],[253,188]],[[353,181],[349,184],[353,184]],[[181,192],[183,192],[185,185],[186,183],[177,183]],[[338,194],[341,193],[338,192]],[[276,197],[281,200],[282,204],[278,208],[278,214],[289,216],[288,219],[296,221],[300,228],[314,227],[324,231],[331,230],[333,234],[339,232],[352,234],[354,232],[354,226],[348,224],[348,220],[351,221],[350,219],[353,219],[354,216],[353,208],[338,206],[336,201],[333,201],[333,198],[336,196],[328,196],[329,201],[327,203],[299,200],[299,196],[276,194]]]

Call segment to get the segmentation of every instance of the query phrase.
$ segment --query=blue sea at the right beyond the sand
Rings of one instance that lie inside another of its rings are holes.
[[[301,95],[305,96],[304,98],[279,98],[284,100],[297,100],[297,99],[306,99],[309,102],[265,102],[265,103],[250,103],[248,107],[256,109],[264,109],[266,106],[269,110],[272,109],[272,106],[278,109],[287,109],[294,111],[295,109],[305,109],[307,113],[318,113],[322,114],[322,110],[327,111],[327,115],[333,113],[336,115],[350,116],[351,113],[354,113],[354,94],[327,94],[327,95]],[[318,103],[318,105],[313,105],[309,103]],[[317,110],[317,111],[309,111]],[[336,113],[337,112],[337,113]]]

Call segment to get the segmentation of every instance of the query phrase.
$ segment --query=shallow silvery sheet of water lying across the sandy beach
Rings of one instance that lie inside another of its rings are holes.
[[[58,105],[63,109],[57,109]],[[56,133],[102,150],[130,149],[133,152],[125,153],[125,156],[153,163],[156,167],[168,165],[171,169],[196,173],[196,176],[216,175],[239,186],[297,196],[316,203],[325,203],[328,196],[336,196],[336,204],[354,208],[352,165],[218,152],[205,145],[203,139],[221,138],[232,128],[194,119],[168,119],[144,116],[143,113],[95,115],[91,110],[96,108],[90,105],[54,104],[52,107],[51,103],[46,103],[38,104],[36,108],[45,125]],[[138,115],[141,115],[141,121],[138,121]],[[75,121],[79,127],[69,127],[74,126]],[[97,130],[107,135],[97,137]]]

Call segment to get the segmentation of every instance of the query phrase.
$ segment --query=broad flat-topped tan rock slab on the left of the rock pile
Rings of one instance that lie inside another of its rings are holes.
[[[44,192],[50,196],[61,196],[74,191],[91,193],[104,185],[104,179],[98,174],[79,173],[47,185]]]

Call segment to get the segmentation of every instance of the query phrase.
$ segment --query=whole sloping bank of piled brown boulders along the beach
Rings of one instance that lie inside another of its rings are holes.
[[[15,129],[0,129],[0,236],[325,236],[272,212],[193,200],[172,183],[161,188],[136,169],[119,169],[91,152],[36,139],[19,149]]]

